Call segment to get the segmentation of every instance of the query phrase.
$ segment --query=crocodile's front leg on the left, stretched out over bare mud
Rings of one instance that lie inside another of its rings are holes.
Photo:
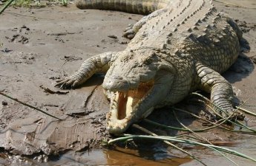
[[[75,88],[76,86],[85,83],[85,81],[95,73],[107,72],[111,63],[116,59],[116,56],[117,52],[105,52],[88,58],[73,75],[58,80],[56,87],[60,87],[61,89]]]

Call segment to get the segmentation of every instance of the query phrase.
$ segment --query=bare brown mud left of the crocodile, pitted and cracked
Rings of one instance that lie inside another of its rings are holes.
[[[8,8],[0,18],[0,90],[64,120],[1,96],[1,146],[26,155],[99,147],[108,138],[105,114],[109,106],[99,86],[102,77],[68,94],[50,94],[42,88],[59,91],[53,87],[56,79],[72,74],[83,60],[124,49],[127,40],[121,37],[122,27],[140,17],[78,10],[73,5]]]

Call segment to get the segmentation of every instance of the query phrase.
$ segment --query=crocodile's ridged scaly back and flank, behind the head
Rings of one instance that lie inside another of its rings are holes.
[[[211,1],[174,0],[167,9],[137,32],[128,49],[158,49],[170,60],[197,60],[217,72],[234,63],[240,49],[239,29]]]

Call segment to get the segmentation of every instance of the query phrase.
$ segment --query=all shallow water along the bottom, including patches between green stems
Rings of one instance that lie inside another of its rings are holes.
[[[256,140],[254,136],[244,135],[244,139],[241,139],[238,144],[230,148],[240,153],[256,158],[255,144]],[[21,159],[19,156],[14,156],[12,159],[4,153],[0,153],[0,165],[30,165],[30,166],[55,166],[55,165],[142,165],[142,166],[153,166],[153,165],[201,165],[199,162],[190,159],[188,156],[181,154],[179,151],[173,148],[165,148],[162,145],[156,143],[149,145],[150,148],[142,148],[140,151],[131,150],[128,148],[115,148],[110,149],[94,149],[86,152],[68,152],[62,156],[53,157],[48,162],[38,162],[36,159]],[[218,153],[210,151],[205,148],[184,148],[189,153],[194,154],[197,158],[201,159],[206,165],[234,165],[229,162],[223,156]],[[177,157],[180,156],[181,158]],[[237,156],[228,155],[232,161],[238,165],[254,166],[255,163],[248,159],[242,159]]]

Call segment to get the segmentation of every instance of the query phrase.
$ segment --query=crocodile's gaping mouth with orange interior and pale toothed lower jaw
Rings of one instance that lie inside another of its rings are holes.
[[[145,97],[150,95],[153,86],[154,81],[148,81],[140,83],[137,89],[112,92],[114,95],[111,99],[111,109],[107,115],[107,129],[110,133],[124,132],[131,125],[131,120],[139,120],[153,111],[153,108],[138,110]]]

